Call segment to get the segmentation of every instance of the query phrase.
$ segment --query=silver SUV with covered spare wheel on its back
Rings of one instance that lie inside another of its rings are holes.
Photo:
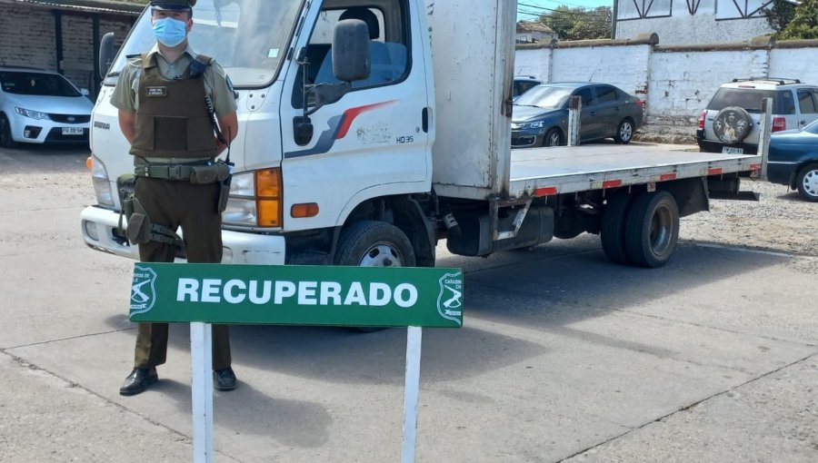
[[[818,119],[818,87],[798,79],[752,77],[722,84],[699,116],[699,149],[757,153],[761,105],[773,98],[773,132],[799,129]]]

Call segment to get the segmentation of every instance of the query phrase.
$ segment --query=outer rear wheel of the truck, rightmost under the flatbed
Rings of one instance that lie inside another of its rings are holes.
[[[633,200],[624,226],[628,258],[642,267],[661,267],[679,239],[679,208],[669,192],[642,193]]]

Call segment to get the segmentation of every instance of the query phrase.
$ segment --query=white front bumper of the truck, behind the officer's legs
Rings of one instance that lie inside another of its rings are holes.
[[[89,206],[80,214],[80,229],[85,244],[138,261],[138,246],[132,246],[118,228],[119,212]],[[283,265],[286,255],[284,244],[284,236],[223,230],[222,263]]]

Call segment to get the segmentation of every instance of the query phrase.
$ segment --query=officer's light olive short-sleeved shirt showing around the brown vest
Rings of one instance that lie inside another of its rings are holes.
[[[187,44],[185,52],[183,52],[174,63],[169,63],[165,55],[159,49],[159,44],[155,44],[148,52],[148,57],[156,54],[156,65],[159,68],[159,74],[165,79],[176,80],[184,79],[190,75],[188,67],[195,60],[198,54],[194,49]],[[114,87],[114,94],[111,95],[111,104],[115,108],[135,113],[139,108],[139,77],[142,75],[142,56],[129,58],[128,63],[125,64],[125,69],[122,74],[119,74],[119,79],[116,81]],[[210,96],[213,102],[213,109],[216,116],[221,117],[225,114],[233,113],[236,110],[235,98],[233,94],[233,85],[229,84],[226,74],[222,66],[215,61],[211,61],[209,66],[205,67],[205,94]],[[137,160],[135,160],[136,162]],[[149,163],[189,163],[191,159],[175,159],[175,158],[145,158]]]

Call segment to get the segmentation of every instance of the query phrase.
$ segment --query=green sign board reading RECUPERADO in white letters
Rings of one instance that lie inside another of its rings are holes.
[[[328,326],[463,325],[460,269],[134,265],[131,320]]]

